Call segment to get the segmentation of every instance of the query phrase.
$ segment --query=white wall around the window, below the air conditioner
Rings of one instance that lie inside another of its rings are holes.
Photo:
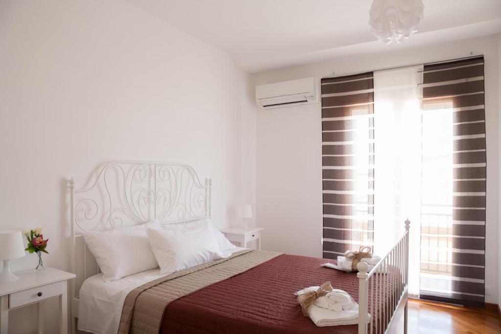
[[[496,35],[446,44],[365,53],[253,75],[256,85],[485,55],[487,141],[486,301],[499,293],[499,39]],[[391,50],[391,49],[390,49]],[[322,256],[322,136],[320,104],[257,109],[257,222],[263,248]],[[412,232],[412,226],[411,226]]]

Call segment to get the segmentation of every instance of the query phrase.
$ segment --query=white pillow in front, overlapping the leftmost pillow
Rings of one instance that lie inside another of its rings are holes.
[[[146,231],[162,275],[224,257],[206,221],[167,228],[148,223]]]

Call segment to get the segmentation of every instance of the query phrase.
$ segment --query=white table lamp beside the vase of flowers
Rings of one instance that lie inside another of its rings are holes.
[[[11,259],[25,256],[23,233],[17,230],[0,231],[0,259],[4,260],[4,268],[0,272],[0,282],[13,282],[19,277],[11,272]]]

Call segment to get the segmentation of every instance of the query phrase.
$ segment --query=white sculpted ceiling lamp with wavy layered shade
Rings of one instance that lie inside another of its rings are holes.
[[[417,32],[423,11],[422,0],[374,0],[369,11],[371,32],[381,42],[401,43]]]

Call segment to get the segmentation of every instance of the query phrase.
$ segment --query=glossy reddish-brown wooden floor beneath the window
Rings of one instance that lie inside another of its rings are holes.
[[[403,323],[401,326],[403,328]],[[449,333],[499,334],[501,316],[494,308],[469,308],[409,299],[408,334]]]

